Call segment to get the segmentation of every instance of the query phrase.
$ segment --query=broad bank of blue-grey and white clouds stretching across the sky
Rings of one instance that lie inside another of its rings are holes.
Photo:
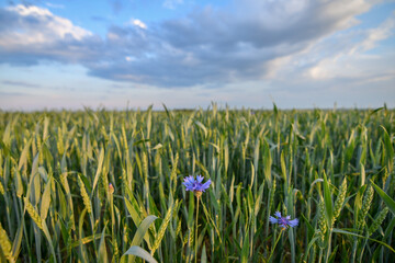
[[[173,8],[182,1],[167,2]],[[158,24],[131,19],[110,26],[104,38],[45,8],[9,7],[0,9],[0,64],[78,64],[90,76],[159,88],[210,88],[284,76],[359,79],[366,71],[370,79],[393,79],[388,69],[371,71],[370,62],[381,58],[359,55],[393,35],[393,18],[377,28],[339,33],[358,25],[356,16],[372,4],[235,0],[227,8],[196,8]]]

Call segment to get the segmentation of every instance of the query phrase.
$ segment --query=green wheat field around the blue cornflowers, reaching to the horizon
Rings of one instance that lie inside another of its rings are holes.
[[[0,262],[394,262],[394,146],[385,106],[2,111]]]

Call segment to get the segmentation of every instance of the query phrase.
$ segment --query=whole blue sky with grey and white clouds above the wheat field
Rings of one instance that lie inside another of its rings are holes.
[[[0,0],[0,110],[395,107],[395,1]]]

